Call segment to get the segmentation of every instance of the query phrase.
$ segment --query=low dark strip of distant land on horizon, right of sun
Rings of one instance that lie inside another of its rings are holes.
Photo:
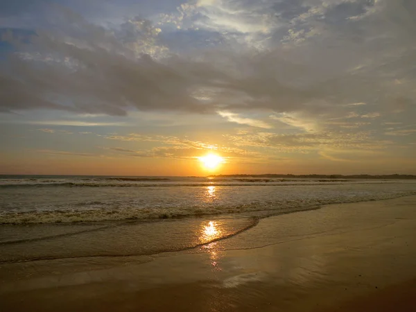
[[[292,175],[292,174],[273,174],[265,173],[261,175],[235,174],[235,175],[209,175],[209,177],[303,177],[318,179],[397,179],[397,180],[416,180],[416,175]]]

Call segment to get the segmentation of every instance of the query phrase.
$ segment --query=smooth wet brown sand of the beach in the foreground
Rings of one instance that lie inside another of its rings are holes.
[[[3,263],[1,311],[416,311],[416,196],[153,256]],[[62,246],[64,248],[64,246]]]

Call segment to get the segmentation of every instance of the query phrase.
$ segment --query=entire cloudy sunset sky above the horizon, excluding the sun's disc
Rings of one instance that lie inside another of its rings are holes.
[[[0,174],[416,174],[415,33],[415,0],[0,1]]]

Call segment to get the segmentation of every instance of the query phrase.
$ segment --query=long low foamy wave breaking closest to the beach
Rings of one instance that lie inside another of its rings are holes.
[[[0,213],[0,224],[28,223],[85,223],[109,220],[157,220],[165,218],[184,218],[192,216],[241,214],[250,216],[272,216],[305,209],[313,209],[322,205],[341,204],[346,202],[363,202],[369,200],[386,200],[402,196],[416,195],[416,191],[400,191],[396,193],[376,193],[354,197],[334,197],[324,200],[311,198],[308,200],[276,200],[274,202],[252,202],[245,205],[211,205],[197,207],[157,207],[142,208],[124,207],[117,209],[71,209],[53,211],[3,211]]]

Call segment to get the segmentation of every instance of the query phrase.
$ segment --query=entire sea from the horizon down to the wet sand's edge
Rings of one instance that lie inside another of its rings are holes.
[[[2,175],[0,263],[200,248],[262,218],[415,194],[416,180]]]

